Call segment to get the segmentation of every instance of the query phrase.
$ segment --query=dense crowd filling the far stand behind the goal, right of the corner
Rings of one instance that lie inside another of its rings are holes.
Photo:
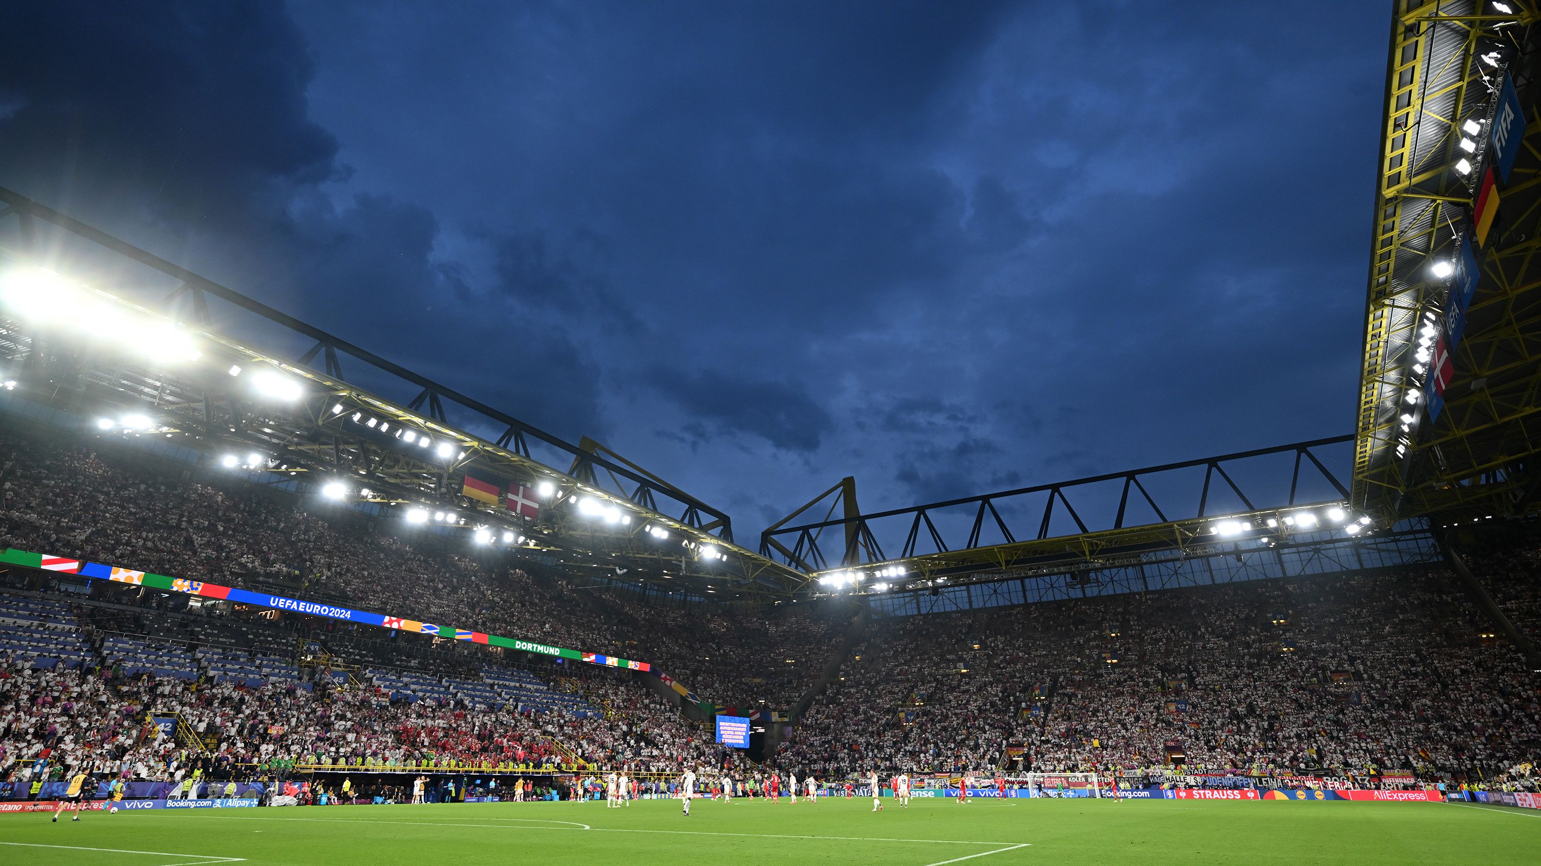
[[[1486,629],[1442,570],[889,619],[780,760],[957,770],[1020,749],[1039,772],[1177,755],[1248,775],[1504,772],[1541,757],[1541,696]]]

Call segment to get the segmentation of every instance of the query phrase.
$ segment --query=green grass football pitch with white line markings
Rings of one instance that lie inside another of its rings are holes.
[[[770,804],[475,803],[0,815],[0,863],[1507,863],[1535,866],[1541,812],[1445,803],[1133,800]]]

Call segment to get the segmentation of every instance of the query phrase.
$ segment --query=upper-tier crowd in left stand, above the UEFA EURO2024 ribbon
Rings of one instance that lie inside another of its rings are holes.
[[[307,601],[647,661],[700,700],[746,712],[792,706],[855,615],[844,604],[754,616],[638,606],[530,575],[502,552],[467,555],[109,441],[0,427],[0,545],[227,586],[287,581]]]

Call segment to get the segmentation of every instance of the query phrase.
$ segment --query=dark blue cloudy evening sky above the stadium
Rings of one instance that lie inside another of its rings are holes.
[[[6,18],[0,185],[741,538],[1353,428],[1384,3]]]

